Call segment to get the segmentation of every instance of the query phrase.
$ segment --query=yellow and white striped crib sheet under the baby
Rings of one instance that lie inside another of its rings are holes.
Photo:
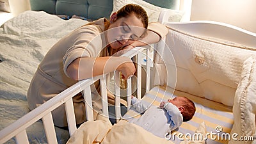
[[[188,93],[174,91],[172,88],[164,86],[155,86],[141,100],[159,106],[161,101],[166,101],[177,95],[193,100],[196,106],[196,113],[191,120],[183,122],[178,129],[172,131],[172,137],[168,137],[171,141],[182,143],[186,138],[192,138],[196,128],[204,122],[207,134],[211,134],[203,137],[207,139],[207,144],[228,143],[225,136],[230,133],[234,123],[231,107],[212,100],[203,99],[202,97],[189,95]],[[134,118],[140,118],[140,116],[140,113],[131,107],[123,118],[131,121]]]

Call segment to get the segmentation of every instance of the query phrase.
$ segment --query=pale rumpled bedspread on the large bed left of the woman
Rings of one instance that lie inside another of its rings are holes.
[[[86,23],[27,11],[0,27],[0,130],[29,112],[26,93],[45,53],[60,38]],[[30,143],[46,143],[42,121],[31,125],[27,132]],[[56,133],[58,142],[66,143],[68,131],[56,127]],[[6,143],[15,143],[14,138]]]

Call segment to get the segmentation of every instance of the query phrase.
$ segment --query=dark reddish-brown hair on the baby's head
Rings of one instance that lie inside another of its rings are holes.
[[[188,99],[187,97],[182,104],[182,106],[185,108],[184,111],[182,111],[182,116],[183,116],[183,122],[187,122],[191,120],[191,118],[195,115],[196,112],[196,107],[195,104],[192,100]]]

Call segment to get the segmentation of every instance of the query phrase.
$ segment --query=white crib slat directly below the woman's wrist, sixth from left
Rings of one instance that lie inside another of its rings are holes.
[[[116,122],[121,118],[121,100],[120,100],[120,72],[115,72],[115,113]]]

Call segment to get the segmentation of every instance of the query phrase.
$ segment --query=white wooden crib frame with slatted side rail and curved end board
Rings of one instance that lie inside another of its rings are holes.
[[[189,35],[193,36],[203,36],[207,38],[215,38],[221,39],[221,40],[227,40],[228,42],[234,42],[236,44],[241,45],[241,47],[248,47],[248,49],[244,51],[250,51],[252,52],[252,55],[256,56],[256,34],[251,33],[248,31],[245,31],[240,28],[236,28],[234,26],[230,26],[228,24],[223,24],[220,22],[209,22],[209,21],[197,21],[197,22],[166,22],[166,18],[168,18],[168,15],[166,13],[162,12],[159,17],[159,22],[165,24],[170,29],[175,29],[175,31],[182,31],[182,33],[188,33]],[[224,32],[225,31],[225,32]],[[211,39],[212,40],[212,39]],[[211,40],[209,40],[211,42]],[[164,39],[163,41],[159,42],[158,44],[154,45],[155,51],[160,51],[160,53],[163,50],[163,47],[166,45],[166,41],[168,39]],[[228,43],[230,44],[230,43]],[[226,44],[226,45],[228,45]],[[156,70],[153,70],[152,79],[150,79],[150,65],[151,62],[148,56],[147,58],[147,78],[141,79],[141,65],[143,64],[143,61],[141,61],[141,56],[143,55],[143,50],[145,48],[143,47],[136,47],[132,51],[129,51],[125,53],[123,56],[128,56],[129,58],[132,57],[138,57],[136,58],[137,63],[137,77],[138,77],[138,87],[137,87],[137,96],[141,97],[141,82],[143,80],[146,81],[146,92],[150,90],[149,86],[150,83],[153,83],[154,85],[162,84],[161,77],[160,79],[157,79],[154,77],[154,74],[156,73]],[[147,49],[147,54],[149,53],[150,49]],[[168,70],[168,68],[167,68]],[[177,70],[179,72],[179,70]],[[116,78],[116,85],[115,85],[115,94],[120,95],[120,88],[119,88],[119,73],[115,72]],[[172,77],[168,76],[165,77],[164,75],[162,78],[164,79],[170,79]],[[178,77],[179,78],[179,77]],[[61,92],[56,97],[52,98],[51,100],[45,102],[42,104],[42,106],[39,106],[38,108],[34,109],[33,111],[29,112],[27,115],[23,116],[13,124],[9,125],[8,127],[4,128],[2,131],[0,131],[0,143],[4,143],[11,138],[15,137],[17,143],[29,143],[28,137],[26,134],[26,128],[29,127],[29,125],[35,123],[37,120],[40,120],[42,118],[44,123],[44,129],[47,136],[48,143],[57,143],[56,140],[56,134],[54,130],[54,124],[52,120],[51,111],[53,111],[55,108],[58,108],[58,106],[61,106],[61,104],[65,104],[65,109],[67,111],[67,120],[68,120],[68,129],[70,136],[74,134],[74,132],[77,130],[76,127],[76,120],[74,116],[74,108],[72,105],[72,97],[76,95],[79,92],[84,93],[84,100],[85,100],[85,106],[86,106],[86,118],[88,120],[93,120],[93,111],[92,111],[92,97],[90,95],[90,85],[93,84],[94,81],[100,80],[100,86],[101,86],[101,95],[102,95],[102,115],[107,116],[109,115],[108,112],[108,98],[107,98],[107,88],[105,81],[107,79],[106,74],[103,76],[97,76],[93,77],[92,79],[85,79],[83,81],[79,81],[78,83],[74,84],[67,90]],[[177,80],[179,83],[179,79]],[[176,82],[176,80],[175,80]],[[131,78],[127,80],[127,108],[130,108],[131,104]],[[169,86],[177,86],[176,83],[165,83]],[[179,85],[179,84],[178,84]],[[192,93],[193,94],[193,93]],[[120,111],[120,97],[115,97],[115,111],[116,111],[116,120],[119,120],[122,118],[121,111]],[[255,125],[254,125],[255,126]]]

